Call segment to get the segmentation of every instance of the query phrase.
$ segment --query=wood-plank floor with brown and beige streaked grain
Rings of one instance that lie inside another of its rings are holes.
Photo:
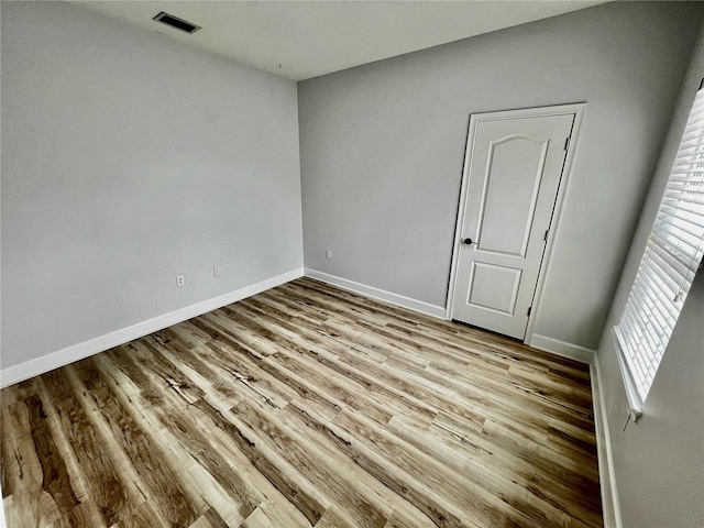
[[[602,526],[585,365],[308,278],[1,410],[8,528]]]

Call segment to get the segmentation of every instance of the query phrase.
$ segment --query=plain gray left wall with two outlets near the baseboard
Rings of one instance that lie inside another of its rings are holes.
[[[2,2],[1,163],[3,369],[302,265],[296,84],[156,33]]]

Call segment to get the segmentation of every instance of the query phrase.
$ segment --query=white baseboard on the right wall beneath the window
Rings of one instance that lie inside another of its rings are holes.
[[[590,365],[590,378],[592,380],[592,399],[594,402],[594,428],[596,430],[598,481],[602,491],[604,528],[622,528],[616,473],[614,471],[614,455],[612,452],[608,420],[606,418],[606,400],[602,388],[601,372],[598,355],[595,355],[594,363]]]

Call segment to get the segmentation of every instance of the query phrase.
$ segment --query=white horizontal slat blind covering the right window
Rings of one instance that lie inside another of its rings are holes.
[[[628,302],[614,328],[635,411],[648,396],[703,253],[704,90],[700,90]]]

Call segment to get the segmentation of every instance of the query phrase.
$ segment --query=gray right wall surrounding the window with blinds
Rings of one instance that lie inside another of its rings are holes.
[[[667,142],[598,350],[598,366],[625,527],[704,526],[704,272],[684,302],[638,424],[623,431],[627,399],[610,328],[626,305],[696,89],[704,31],[682,86]]]

